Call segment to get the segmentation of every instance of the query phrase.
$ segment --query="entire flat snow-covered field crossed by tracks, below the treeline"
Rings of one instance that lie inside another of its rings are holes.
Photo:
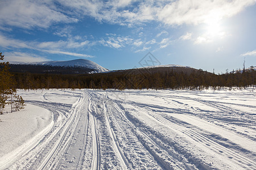
[[[249,90],[19,91],[0,169],[256,169]]]

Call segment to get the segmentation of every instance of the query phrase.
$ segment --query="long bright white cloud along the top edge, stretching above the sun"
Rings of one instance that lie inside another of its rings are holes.
[[[79,1],[59,0],[61,5],[99,22],[132,25],[155,20],[167,25],[200,24],[228,18],[255,4],[255,0],[177,1]]]

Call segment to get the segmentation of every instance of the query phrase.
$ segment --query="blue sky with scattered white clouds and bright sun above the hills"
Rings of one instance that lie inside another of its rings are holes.
[[[6,61],[85,58],[110,69],[162,65],[216,73],[256,65],[255,0],[0,1]]]

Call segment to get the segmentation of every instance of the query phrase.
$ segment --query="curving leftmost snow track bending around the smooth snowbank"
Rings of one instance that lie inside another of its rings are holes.
[[[73,105],[72,112],[75,111],[76,106],[79,104],[80,100],[81,97],[79,100],[77,100],[76,104]],[[51,111],[53,113],[54,124],[52,129],[44,136],[44,138],[39,141],[34,148],[28,150],[26,154],[23,154],[22,158],[16,160],[16,162],[10,166],[10,169],[38,169],[40,165],[45,161],[49,153],[52,152],[52,148],[55,147],[55,143],[60,139],[60,134],[63,133],[64,129],[68,125],[68,122],[70,122],[69,120],[71,119],[71,116],[67,118],[67,114],[65,114],[65,112],[69,112],[71,105],[34,100],[27,102],[39,105],[40,107]],[[51,164],[52,160],[48,163]]]

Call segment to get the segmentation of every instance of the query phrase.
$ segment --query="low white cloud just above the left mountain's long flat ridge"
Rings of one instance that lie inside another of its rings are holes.
[[[48,61],[49,59],[36,54],[21,53],[21,52],[6,52],[5,61],[9,62],[37,62],[37,61]]]

